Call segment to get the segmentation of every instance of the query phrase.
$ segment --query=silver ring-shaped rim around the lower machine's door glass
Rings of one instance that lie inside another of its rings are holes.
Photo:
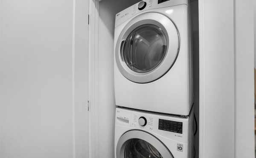
[[[119,138],[116,146],[116,158],[125,158],[125,146],[128,140],[134,138],[144,140],[151,144],[163,158],[174,158],[169,149],[158,138],[141,130],[130,130]]]

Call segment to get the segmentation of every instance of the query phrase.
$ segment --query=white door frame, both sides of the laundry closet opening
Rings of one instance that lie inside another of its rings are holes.
[[[218,154],[230,158],[254,158],[252,4],[253,0],[198,0],[199,158],[213,158]],[[90,0],[90,158],[99,158],[98,11],[99,0]],[[211,23],[212,19],[222,20],[225,25]],[[219,39],[226,43],[218,43]],[[219,45],[214,46],[216,44]],[[211,62],[214,59],[221,59],[217,66]],[[212,141],[210,145],[209,141]],[[213,153],[213,150],[220,152]]]

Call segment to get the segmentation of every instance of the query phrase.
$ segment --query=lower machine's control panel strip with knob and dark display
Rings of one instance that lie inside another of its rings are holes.
[[[188,142],[189,133],[192,133],[192,119],[187,116],[169,116],[165,114],[144,112],[140,110],[116,108],[116,130],[143,130],[151,134],[162,135],[172,140]]]

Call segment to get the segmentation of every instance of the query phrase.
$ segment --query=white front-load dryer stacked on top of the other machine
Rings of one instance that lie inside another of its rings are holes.
[[[188,0],[143,0],[116,14],[117,106],[187,116],[193,103]]]

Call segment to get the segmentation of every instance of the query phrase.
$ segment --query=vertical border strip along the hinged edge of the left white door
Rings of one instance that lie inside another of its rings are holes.
[[[88,0],[74,0],[74,105],[75,105],[75,158],[89,158],[89,48]]]

